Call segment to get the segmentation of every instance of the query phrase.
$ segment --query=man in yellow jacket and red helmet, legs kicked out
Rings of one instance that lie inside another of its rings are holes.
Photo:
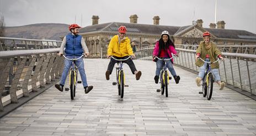
[[[107,55],[108,58],[110,58],[111,56],[116,59],[126,59],[129,56],[135,58],[134,52],[132,52],[132,48],[130,45],[130,39],[128,37],[125,37],[126,30],[127,29],[125,26],[120,26],[120,28],[118,29],[119,34],[115,35],[110,40]],[[113,58],[110,59],[108,69],[106,70],[106,80],[109,80],[109,75],[112,73],[115,63],[117,62],[118,61]],[[135,74],[136,80],[139,80],[141,77],[141,71],[137,71],[132,59],[129,58],[123,62],[128,64],[132,74]]]

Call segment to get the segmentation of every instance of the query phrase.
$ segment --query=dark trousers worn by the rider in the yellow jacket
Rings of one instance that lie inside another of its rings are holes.
[[[129,56],[125,56],[125,57],[116,57],[116,56],[113,56],[113,57],[116,58],[116,59],[126,59],[126,58],[129,57]],[[108,69],[107,69],[107,70],[110,71],[110,74],[112,73],[113,68],[114,68],[114,66],[115,66],[115,63],[117,63],[117,62],[118,62],[118,61],[116,61],[115,59],[110,58],[109,66],[108,66]],[[134,72],[137,71],[137,69],[136,69],[136,67],[135,67],[135,65],[134,65],[134,62],[132,61],[131,58],[127,59],[126,61],[122,61],[122,62],[128,64],[128,66],[129,66],[130,69],[131,69],[132,74],[134,74]]]

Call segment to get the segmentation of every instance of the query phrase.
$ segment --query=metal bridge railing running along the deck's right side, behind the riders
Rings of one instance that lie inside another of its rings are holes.
[[[199,72],[199,67],[195,66],[195,50],[176,48],[179,57],[174,59],[174,63],[183,68]],[[152,60],[153,47],[141,48],[135,52],[137,59]],[[256,95],[256,55],[244,53],[226,53],[225,61],[220,62],[219,72],[221,80],[234,88],[248,91],[250,95]]]

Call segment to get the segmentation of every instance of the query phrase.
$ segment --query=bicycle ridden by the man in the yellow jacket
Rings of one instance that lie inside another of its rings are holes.
[[[113,82],[112,85],[118,85],[118,95],[120,95],[121,98],[124,97],[124,86],[128,87],[129,85],[125,85],[125,74],[124,70],[122,70],[123,63],[122,61],[126,61],[127,59],[130,59],[131,56],[129,56],[126,59],[116,59],[113,56],[111,58],[118,61],[118,67],[116,67],[116,82]]]

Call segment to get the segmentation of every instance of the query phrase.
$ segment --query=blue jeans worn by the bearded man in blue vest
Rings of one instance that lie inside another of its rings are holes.
[[[67,58],[79,58],[80,56],[66,56]],[[86,72],[84,71],[84,63],[83,58],[78,59],[76,62],[76,66],[78,67],[78,71],[81,75],[83,87],[88,86],[87,79],[86,79]],[[64,68],[61,75],[61,82],[60,84],[65,85],[65,81],[67,78],[68,71],[70,70],[70,67],[72,65],[72,61],[65,59],[64,60]]]

